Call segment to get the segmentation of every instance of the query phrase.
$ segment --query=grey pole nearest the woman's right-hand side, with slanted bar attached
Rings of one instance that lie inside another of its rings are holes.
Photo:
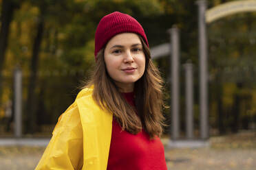
[[[176,140],[180,136],[179,119],[179,62],[180,62],[180,42],[179,30],[175,25],[168,30],[171,36],[171,138]]]

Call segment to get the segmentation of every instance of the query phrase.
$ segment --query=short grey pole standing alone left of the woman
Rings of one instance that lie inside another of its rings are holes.
[[[22,73],[17,67],[14,70],[14,136],[22,135]]]

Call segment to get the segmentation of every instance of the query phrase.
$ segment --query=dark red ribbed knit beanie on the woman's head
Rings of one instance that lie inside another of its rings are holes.
[[[139,34],[147,44],[147,47],[149,47],[144,29],[136,19],[128,14],[113,12],[104,16],[103,19],[100,20],[100,23],[98,23],[95,34],[95,59],[98,51],[100,51],[112,37],[123,32]]]

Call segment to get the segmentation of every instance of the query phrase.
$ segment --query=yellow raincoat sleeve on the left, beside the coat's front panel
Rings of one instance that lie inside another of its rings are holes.
[[[76,103],[59,117],[52,135],[36,170],[81,169],[83,130]]]

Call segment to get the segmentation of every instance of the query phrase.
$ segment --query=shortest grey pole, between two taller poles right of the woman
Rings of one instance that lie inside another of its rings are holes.
[[[185,84],[186,84],[186,137],[193,138],[193,64],[186,62]]]

